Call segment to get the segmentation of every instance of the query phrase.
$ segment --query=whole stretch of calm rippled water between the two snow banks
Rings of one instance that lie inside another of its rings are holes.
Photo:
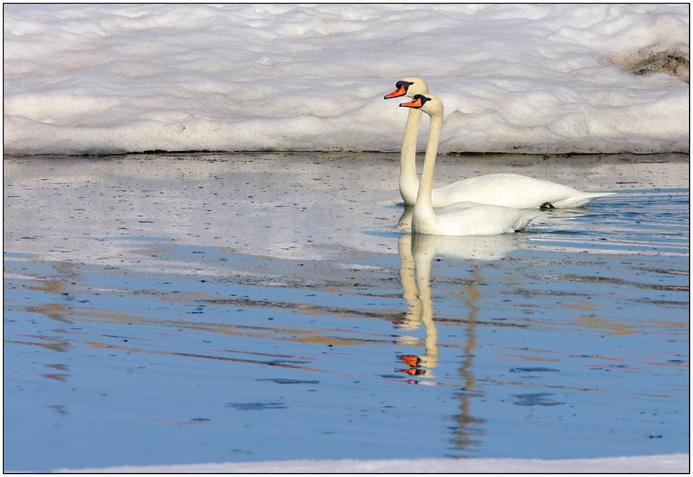
[[[412,238],[392,155],[6,158],[5,469],[687,452],[687,159],[580,160]]]

